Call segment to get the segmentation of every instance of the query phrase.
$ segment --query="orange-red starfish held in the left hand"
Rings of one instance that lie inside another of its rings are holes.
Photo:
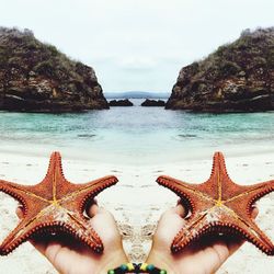
[[[103,243],[83,212],[93,197],[115,184],[115,176],[104,176],[84,184],[67,181],[61,156],[53,152],[44,180],[36,185],[21,185],[0,180],[0,191],[22,204],[23,218],[0,244],[0,255],[7,255],[22,242],[48,233],[66,233],[88,244],[95,253]]]

